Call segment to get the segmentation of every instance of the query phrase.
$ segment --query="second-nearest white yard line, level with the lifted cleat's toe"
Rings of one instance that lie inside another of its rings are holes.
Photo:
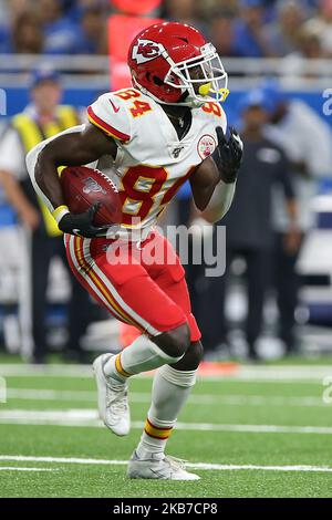
[[[40,425],[40,426],[80,426],[102,427],[95,409],[66,410],[0,410],[0,424]],[[133,428],[143,428],[144,424],[134,420]],[[283,426],[260,424],[216,424],[216,423],[177,423],[179,430],[232,431],[255,434],[317,434],[331,435],[331,426]]]

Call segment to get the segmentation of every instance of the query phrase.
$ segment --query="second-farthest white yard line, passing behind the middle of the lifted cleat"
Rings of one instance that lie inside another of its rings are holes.
[[[95,392],[85,391],[53,391],[45,388],[8,388],[7,396],[9,399],[18,401],[60,401],[60,402],[96,402]],[[129,394],[132,403],[149,403],[151,394],[148,392]],[[303,397],[284,397],[284,396],[262,396],[262,395],[212,395],[197,394],[191,395],[188,399],[189,405],[229,405],[229,406],[310,406],[326,407],[328,405],[321,397],[303,396]]]

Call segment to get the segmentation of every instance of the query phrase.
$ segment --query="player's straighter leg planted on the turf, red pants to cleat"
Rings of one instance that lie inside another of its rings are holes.
[[[170,246],[166,242],[165,247]],[[169,257],[167,257],[169,258]],[[158,277],[156,278],[156,270]],[[203,358],[200,332],[191,314],[190,300],[184,269],[178,258],[175,263],[151,269],[155,282],[180,306],[190,327],[190,346],[180,361],[162,366],[155,374],[152,405],[144,431],[128,467],[132,478],[198,478],[183,469],[174,470],[172,460],[165,458],[167,440],[177,417],[185,406],[196,382],[196,372]],[[168,464],[167,464],[168,462]]]

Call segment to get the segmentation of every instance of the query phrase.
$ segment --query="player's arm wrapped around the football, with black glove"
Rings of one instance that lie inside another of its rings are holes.
[[[53,212],[62,231],[79,232],[85,237],[95,236],[98,230],[92,225],[92,220],[97,208],[90,208],[80,215],[70,214],[63,199],[58,167],[85,165],[103,155],[115,157],[116,149],[112,137],[89,124],[84,129],[63,133],[53,138],[37,156],[35,150],[28,154],[27,165],[34,188]]]

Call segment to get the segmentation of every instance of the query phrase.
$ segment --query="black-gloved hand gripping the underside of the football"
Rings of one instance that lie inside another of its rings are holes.
[[[79,237],[93,238],[105,235],[108,226],[96,227],[93,223],[93,217],[98,209],[98,202],[94,204],[83,214],[65,214],[59,222],[59,229],[64,233],[76,235]]]

